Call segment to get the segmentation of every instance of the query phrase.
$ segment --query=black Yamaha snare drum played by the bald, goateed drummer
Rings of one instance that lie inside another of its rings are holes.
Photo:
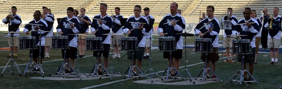
[[[172,52],[176,51],[175,38],[172,36],[159,38],[159,51]]]

